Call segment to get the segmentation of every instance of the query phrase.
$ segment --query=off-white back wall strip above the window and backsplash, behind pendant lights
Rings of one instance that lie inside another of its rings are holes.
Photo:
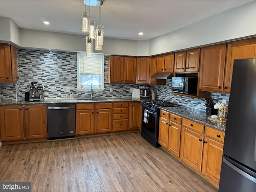
[[[85,52],[85,36],[20,29],[20,47]],[[94,53],[137,55],[137,41],[104,37],[102,51]]]

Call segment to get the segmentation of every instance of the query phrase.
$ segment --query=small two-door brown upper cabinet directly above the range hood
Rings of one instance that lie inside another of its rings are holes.
[[[174,53],[156,57],[156,72],[173,72]]]

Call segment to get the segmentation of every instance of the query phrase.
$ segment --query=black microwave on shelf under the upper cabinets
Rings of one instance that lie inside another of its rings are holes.
[[[197,77],[172,77],[172,91],[196,95]]]

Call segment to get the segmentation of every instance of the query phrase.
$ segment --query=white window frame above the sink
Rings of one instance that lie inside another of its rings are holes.
[[[77,75],[76,75],[76,90],[78,91],[90,91],[91,89],[90,88],[80,88],[80,56],[86,56],[86,53],[81,53],[81,52],[78,52],[76,53],[76,70],[77,70]],[[94,91],[104,91],[105,88],[104,88],[104,54],[99,54],[99,53],[93,53],[93,56],[97,56],[97,57],[101,57],[102,59],[102,69],[101,69],[101,88],[93,88],[92,90]],[[86,57],[89,57],[89,56],[86,56]]]

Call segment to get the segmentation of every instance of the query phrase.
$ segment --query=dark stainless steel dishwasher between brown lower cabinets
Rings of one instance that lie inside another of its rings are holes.
[[[75,137],[76,104],[47,105],[48,140]]]

